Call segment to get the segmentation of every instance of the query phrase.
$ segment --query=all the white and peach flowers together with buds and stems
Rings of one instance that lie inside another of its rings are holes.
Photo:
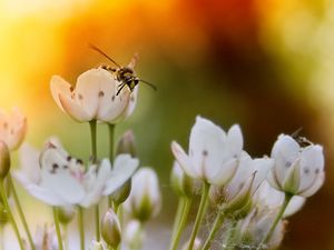
[[[115,127],[136,108],[138,86],[127,88],[111,71],[97,68],[79,76],[75,87],[61,77],[52,77],[50,89],[61,111],[78,122],[88,122],[91,143],[82,147],[90,147],[91,156],[84,160],[72,156],[55,137],[41,149],[22,143],[27,132],[24,116],[18,109],[9,114],[0,112],[0,227],[11,223],[21,250],[63,250],[71,249],[66,247],[66,228],[76,217],[79,247],[75,249],[88,249],[87,238],[90,250],[141,249],[145,224],[161,209],[158,177],[153,168],[139,168],[131,131],[115,143]],[[101,158],[98,158],[97,123],[109,129],[109,156]],[[170,183],[179,202],[169,250],[178,249],[198,194],[195,223],[180,249],[208,250],[214,244],[222,250],[276,249],[283,240],[286,219],[324,182],[323,148],[307,140],[303,142],[281,134],[271,156],[252,158],[244,149],[238,124],[225,132],[197,117],[188,152],[171,142],[175,161]],[[17,149],[20,167],[11,171],[11,154]],[[53,222],[39,227],[35,237],[11,177],[52,209]],[[13,207],[27,240],[20,234]],[[87,236],[85,230],[85,213],[90,209],[95,214],[95,237]],[[208,213],[214,213],[215,220],[209,233],[200,234]],[[164,246],[157,242],[155,249]]]

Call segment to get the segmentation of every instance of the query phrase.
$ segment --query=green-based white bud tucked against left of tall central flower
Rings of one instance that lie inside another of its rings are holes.
[[[194,197],[196,193],[196,180],[188,177],[179,167],[177,161],[174,161],[170,183],[178,196]]]

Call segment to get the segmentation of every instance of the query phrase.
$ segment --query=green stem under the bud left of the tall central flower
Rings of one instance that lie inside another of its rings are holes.
[[[181,212],[179,214],[179,218],[178,220],[176,221],[176,231],[173,236],[173,240],[171,240],[171,244],[170,244],[170,250],[176,250],[177,249],[177,246],[178,246],[178,242],[179,242],[179,239],[181,237],[181,233],[187,224],[187,219],[188,219],[188,216],[189,216],[189,210],[190,210],[190,206],[191,206],[191,199],[190,198],[183,198],[181,200],[184,200],[183,202],[179,202],[181,203]],[[180,200],[180,201],[181,201]],[[178,216],[177,216],[178,217]],[[176,219],[177,219],[176,217]]]

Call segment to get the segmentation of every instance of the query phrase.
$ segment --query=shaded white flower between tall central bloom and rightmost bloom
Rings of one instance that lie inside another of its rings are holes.
[[[274,166],[273,159],[252,159],[245,151],[239,161],[237,172],[227,186],[210,188],[210,199],[225,212],[234,212],[247,206]]]

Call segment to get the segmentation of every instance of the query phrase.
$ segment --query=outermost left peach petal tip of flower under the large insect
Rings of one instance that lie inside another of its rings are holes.
[[[59,100],[59,94],[70,98],[71,97],[71,84],[68,83],[66,80],[63,80],[61,77],[53,76],[51,78],[50,89],[51,89],[51,96],[52,96],[53,100],[56,101],[57,106],[59,107],[59,109],[61,109],[65,112],[62,104]]]

